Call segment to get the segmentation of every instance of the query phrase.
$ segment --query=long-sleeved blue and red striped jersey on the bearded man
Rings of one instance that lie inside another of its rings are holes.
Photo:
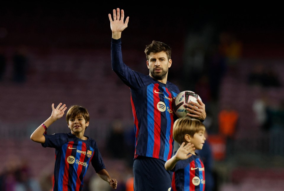
[[[112,70],[130,88],[135,157],[167,161],[173,154],[172,126],[177,117],[172,103],[180,92],[178,87],[170,82],[163,84],[128,67],[122,60],[120,39],[112,39],[111,59]]]

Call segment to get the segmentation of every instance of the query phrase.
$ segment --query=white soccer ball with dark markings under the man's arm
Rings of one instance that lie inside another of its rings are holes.
[[[197,99],[201,100],[199,95],[196,94],[195,92],[192,91],[180,92],[175,97],[175,100],[172,104],[172,109],[179,118],[185,117],[187,113],[190,113],[189,111],[186,110],[187,107],[185,104],[188,104],[189,101],[198,103]]]

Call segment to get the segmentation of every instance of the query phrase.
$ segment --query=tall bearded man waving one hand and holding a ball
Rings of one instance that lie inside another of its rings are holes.
[[[134,190],[163,190],[171,187],[172,172],[165,170],[165,161],[172,157],[172,126],[177,119],[172,110],[175,96],[180,92],[175,84],[167,81],[172,65],[171,48],[162,42],[153,41],[145,49],[149,75],[130,69],[122,61],[121,33],[127,28],[129,17],[124,22],[124,11],[113,9],[109,14],[112,30],[112,69],[130,87],[131,105],[135,129],[135,156],[133,163]],[[187,105],[194,117],[204,120],[205,105]],[[196,108],[196,107],[198,108]]]

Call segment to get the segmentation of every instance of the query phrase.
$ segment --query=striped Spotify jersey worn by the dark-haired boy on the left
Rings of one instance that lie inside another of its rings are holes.
[[[53,191],[81,191],[90,164],[96,172],[105,169],[94,139],[82,140],[71,132],[44,136],[42,146],[55,148]]]

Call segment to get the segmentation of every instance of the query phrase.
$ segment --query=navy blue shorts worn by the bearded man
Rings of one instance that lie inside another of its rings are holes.
[[[172,186],[172,171],[165,162],[138,156],[133,163],[134,191],[167,191]]]

